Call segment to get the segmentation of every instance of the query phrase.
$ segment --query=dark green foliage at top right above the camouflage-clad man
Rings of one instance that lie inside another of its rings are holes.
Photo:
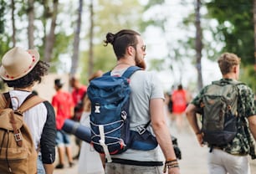
[[[243,64],[253,64],[253,1],[212,0],[206,6],[209,16],[218,20],[214,35],[225,43],[222,51],[238,54]]]

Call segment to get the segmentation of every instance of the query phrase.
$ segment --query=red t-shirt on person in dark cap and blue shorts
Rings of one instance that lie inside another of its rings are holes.
[[[53,97],[52,105],[56,109],[56,128],[61,130],[64,121],[71,117],[71,108],[74,108],[72,96],[63,90],[59,90]]]

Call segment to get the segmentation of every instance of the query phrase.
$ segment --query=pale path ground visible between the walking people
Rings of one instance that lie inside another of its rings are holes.
[[[171,129],[172,135],[177,136],[178,144],[182,150],[182,160],[179,161],[182,174],[207,174],[207,147],[197,144],[196,137],[187,126],[186,130],[177,132]],[[74,146],[74,154],[76,148]],[[58,159],[57,159],[58,161]],[[77,161],[72,168],[66,166],[64,169],[55,169],[54,174],[77,174]],[[256,174],[256,160],[250,162],[252,174]]]

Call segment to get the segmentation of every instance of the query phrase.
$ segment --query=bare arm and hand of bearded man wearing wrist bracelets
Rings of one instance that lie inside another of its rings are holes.
[[[166,125],[163,106],[164,101],[162,99],[150,100],[151,125],[166,160],[171,161],[177,159],[177,156],[175,155],[172,146],[172,138]],[[168,173],[180,173],[179,168],[170,168]]]

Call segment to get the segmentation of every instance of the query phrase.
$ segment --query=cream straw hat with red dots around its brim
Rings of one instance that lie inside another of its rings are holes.
[[[38,63],[40,55],[35,49],[27,51],[14,47],[3,55],[0,76],[5,80],[20,79],[28,74]]]

